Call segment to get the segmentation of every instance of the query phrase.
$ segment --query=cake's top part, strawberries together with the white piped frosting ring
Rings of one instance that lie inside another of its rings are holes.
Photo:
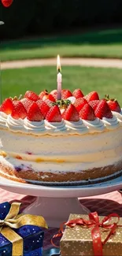
[[[110,99],[109,95],[100,98],[97,91],[83,95],[80,89],[73,92],[64,89],[61,100],[57,100],[57,90],[41,91],[39,95],[26,91],[24,97],[6,98],[0,106],[0,127],[13,132],[84,134],[115,129],[120,125],[119,102],[116,98]]]

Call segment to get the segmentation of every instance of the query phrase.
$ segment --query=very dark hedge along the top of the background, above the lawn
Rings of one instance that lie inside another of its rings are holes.
[[[0,8],[1,35],[9,38],[122,22],[122,0],[13,0]]]

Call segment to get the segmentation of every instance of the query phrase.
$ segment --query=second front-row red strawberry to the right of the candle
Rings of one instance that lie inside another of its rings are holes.
[[[96,119],[94,109],[92,109],[88,103],[79,111],[79,117],[89,121],[94,121]]]

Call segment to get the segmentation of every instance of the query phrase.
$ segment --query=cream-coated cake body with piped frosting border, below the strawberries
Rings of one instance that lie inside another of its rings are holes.
[[[13,180],[74,182],[122,170],[122,113],[50,123],[0,113],[0,174]]]

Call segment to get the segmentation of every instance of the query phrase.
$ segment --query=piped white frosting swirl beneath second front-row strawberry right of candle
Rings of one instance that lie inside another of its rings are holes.
[[[90,132],[103,132],[105,130],[105,125],[99,118],[94,121],[83,120],[83,124],[87,126]]]

